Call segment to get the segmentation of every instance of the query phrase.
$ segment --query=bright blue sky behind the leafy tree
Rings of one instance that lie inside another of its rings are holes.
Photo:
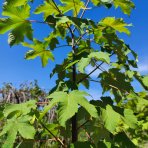
[[[38,1],[37,3],[39,3]],[[114,8],[107,10],[105,8],[94,9],[88,11],[84,17],[92,18],[94,20],[100,20],[105,16],[122,17],[127,23],[132,23],[133,27],[130,28],[131,36],[122,35],[122,38],[126,43],[130,44],[130,47],[134,49],[139,55],[139,71],[142,74],[148,74],[148,1],[147,0],[134,0],[136,9],[133,10],[130,17],[124,15],[120,9]],[[2,3],[0,4],[0,13],[2,9]],[[33,8],[32,8],[33,9]],[[1,17],[1,15],[0,15]],[[41,20],[40,17],[34,17],[34,19]],[[33,24],[34,36],[42,39],[47,35],[48,27],[41,24]],[[51,72],[54,62],[49,62],[46,68],[42,68],[40,59],[25,60],[24,55],[28,50],[22,46],[9,47],[7,43],[7,34],[0,35],[0,87],[3,82],[12,82],[18,86],[22,82],[33,81],[37,79],[39,85],[44,89],[50,89],[54,85],[54,79],[50,80],[49,73]],[[58,62],[62,61],[67,49],[57,49],[55,51],[56,59]],[[87,68],[89,72],[91,68]],[[93,75],[95,76],[95,74]],[[99,92],[96,86],[91,85],[91,93],[96,96]]]

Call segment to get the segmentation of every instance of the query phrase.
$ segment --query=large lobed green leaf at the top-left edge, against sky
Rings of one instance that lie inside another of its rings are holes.
[[[26,20],[30,16],[29,5],[4,5],[2,15],[8,18],[0,18],[0,34],[11,31],[8,39],[10,46],[24,41],[25,36],[32,40],[31,23]]]

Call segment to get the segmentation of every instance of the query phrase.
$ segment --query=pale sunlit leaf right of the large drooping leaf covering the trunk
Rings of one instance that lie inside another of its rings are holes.
[[[117,125],[121,122],[121,115],[115,112],[110,105],[107,105],[106,109],[102,109],[102,119],[105,128],[114,133]]]

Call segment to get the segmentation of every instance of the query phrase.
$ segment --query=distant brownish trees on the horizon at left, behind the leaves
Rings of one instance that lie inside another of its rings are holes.
[[[49,100],[46,99],[47,94],[45,90],[39,87],[36,80],[21,83],[19,87],[15,87],[12,83],[4,83],[0,88],[0,104],[20,104],[29,100],[36,100],[38,110],[43,110],[44,106],[49,104]],[[52,122],[55,118],[55,108],[53,108],[47,115],[47,119]]]

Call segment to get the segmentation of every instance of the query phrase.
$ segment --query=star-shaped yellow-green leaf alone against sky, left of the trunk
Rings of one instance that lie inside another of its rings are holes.
[[[47,42],[42,43],[34,39],[34,44],[23,43],[23,46],[33,49],[26,53],[25,58],[27,60],[34,59],[39,56],[43,67],[47,65],[49,59],[52,61],[54,60],[52,52],[49,49],[46,49],[48,47]]]

